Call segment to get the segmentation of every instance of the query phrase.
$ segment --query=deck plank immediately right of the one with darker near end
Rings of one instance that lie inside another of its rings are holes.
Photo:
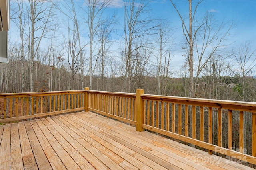
[[[36,164],[38,166],[39,170],[51,170],[52,167],[50,166],[50,163],[46,157],[46,155],[44,154],[44,151],[36,137],[36,134],[34,133],[34,130],[30,124],[29,121],[25,121],[24,125],[26,127],[26,131],[28,134],[28,139],[34,154],[34,157],[36,159]]]

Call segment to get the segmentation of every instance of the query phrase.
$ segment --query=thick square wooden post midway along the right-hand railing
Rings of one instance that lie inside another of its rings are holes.
[[[144,94],[143,89],[136,90],[136,130],[141,132],[144,131],[142,124],[144,123],[144,102],[141,94]]]

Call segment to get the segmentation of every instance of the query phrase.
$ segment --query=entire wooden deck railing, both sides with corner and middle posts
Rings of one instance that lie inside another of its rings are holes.
[[[0,94],[0,98],[4,99],[4,116],[0,123],[72,111],[93,111],[136,125],[137,131],[147,129],[208,149],[209,154],[216,152],[229,156],[230,160],[234,158],[256,164],[254,102],[149,95],[144,94],[142,89],[138,89],[135,94],[94,91],[89,88]],[[250,123],[250,134],[244,129],[244,117],[249,117],[246,123]],[[238,147],[233,146],[234,127],[238,128]],[[244,139],[251,139],[252,147],[247,152],[244,152]],[[224,140],[228,140],[227,146],[222,142]]]

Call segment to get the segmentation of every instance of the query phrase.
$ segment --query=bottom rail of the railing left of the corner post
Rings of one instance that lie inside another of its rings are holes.
[[[84,107],[81,107],[81,108],[76,108],[76,109],[67,109],[67,110],[52,111],[52,112],[40,113],[40,114],[34,114],[34,115],[12,117],[12,118],[0,119],[0,123],[4,123],[4,122],[8,122],[8,121],[18,121],[18,120],[22,120],[22,119],[29,119],[29,118],[35,118],[35,117],[49,116],[49,115],[57,115],[57,114],[68,113],[68,112],[72,112],[72,111],[81,111],[84,109],[85,109]]]

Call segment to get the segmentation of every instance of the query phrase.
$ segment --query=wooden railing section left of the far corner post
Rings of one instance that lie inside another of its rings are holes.
[[[84,90],[0,94],[0,123],[84,110]]]

